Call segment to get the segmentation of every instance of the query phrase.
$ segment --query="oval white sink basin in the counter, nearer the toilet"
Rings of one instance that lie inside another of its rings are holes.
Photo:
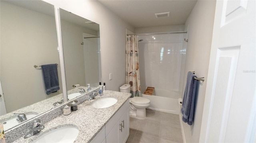
[[[96,100],[92,106],[94,108],[107,108],[110,107],[114,104],[116,104],[117,99],[116,98],[112,98],[112,97],[105,97],[105,98],[100,98],[98,100]]]

